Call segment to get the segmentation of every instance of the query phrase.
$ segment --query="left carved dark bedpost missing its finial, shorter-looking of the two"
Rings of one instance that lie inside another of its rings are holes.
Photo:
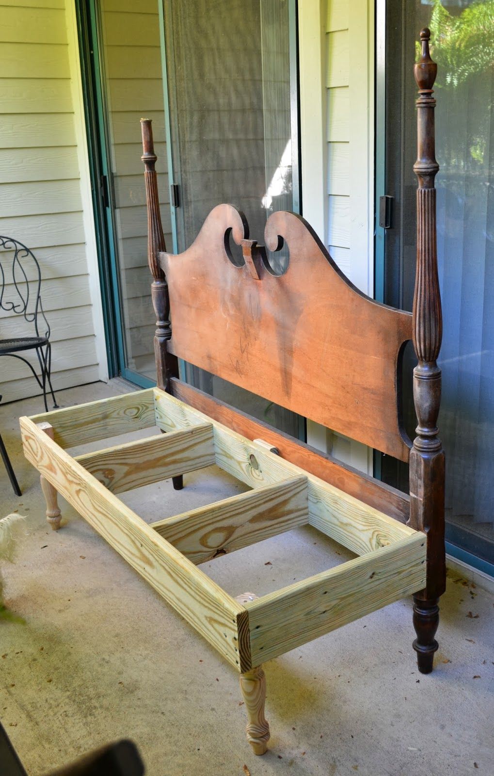
[[[154,332],[154,359],[156,361],[157,386],[170,393],[170,378],[178,377],[178,361],[176,356],[168,353],[167,342],[171,338],[170,299],[168,283],[158,262],[158,255],[166,251],[163,227],[161,226],[160,202],[157,192],[157,175],[154,165],[157,156],[154,153],[153,129],[150,119],[141,119],[143,135],[144,181],[146,182],[147,203],[147,262],[153,282],[151,297],[156,314],[156,331]],[[181,490],[183,476],[172,478],[175,490]]]

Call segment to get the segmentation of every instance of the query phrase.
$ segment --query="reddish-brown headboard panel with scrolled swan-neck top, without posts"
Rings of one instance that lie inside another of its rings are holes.
[[[244,266],[229,258],[230,231]],[[399,365],[411,314],[360,293],[294,213],[273,213],[264,232],[270,251],[288,245],[285,274],[248,237],[243,214],[219,205],[187,251],[159,254],[168,352],[407,461]]]

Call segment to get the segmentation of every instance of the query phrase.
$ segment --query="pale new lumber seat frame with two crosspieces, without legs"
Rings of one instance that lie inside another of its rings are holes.
[[[82,417],[89,420],[77,428]],[[20,425],[26,458],[44,480],[243,674],[425,584],[423,533],[162,390]],[[76,457],[64,449],[146,425],[167,433]],[[252,490],[151,525],[115,495],[212,463]],[[360,557],[245,605],[195,565],[306,524]]]

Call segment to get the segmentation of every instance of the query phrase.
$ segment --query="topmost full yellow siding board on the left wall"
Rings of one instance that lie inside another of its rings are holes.
[[[64,9],[0,6],[2,43],[67,43]]]

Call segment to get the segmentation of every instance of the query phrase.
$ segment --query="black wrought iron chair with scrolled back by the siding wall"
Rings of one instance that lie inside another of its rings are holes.
[[[12,237],[0,236],[0,312],[5,310],[8,313],[19,314],[24,317],[27,324],[34,324],[34,331],[31,336],[2,339],[0,338],[0,356],[11,355],[15,359],[20,359],[29,366],[36,382],[43,391],[43,400],[45,411],[48,411],[47,405],[47,387],[54,400],[54,407],[57,407],[57,400],[53,387],[51,385],[51,345],[50,345],[50,325],[47,317],[43,313],[43,305],[40,297],[41,272],[33,251],[26,248],[18,240]],[[13,256],[11,258],[11,255]],[[9,258],[5,260],[5,255]],[[9,269],[9,271],[7,271]],[[11,298],[7,299],[7,294],[11,289]],[[40,328],[44,333],[40,334]],[[1,330],[0,330],[1,337]],[[36,374],[33,365],[29,363],[19,352],[35,350],[38,362],[40,364],[41,376]]]

